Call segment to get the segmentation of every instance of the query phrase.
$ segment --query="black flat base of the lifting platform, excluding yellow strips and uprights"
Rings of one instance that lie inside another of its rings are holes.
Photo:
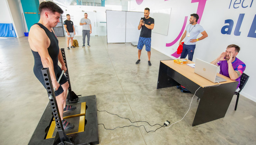
[[[97,119],[97,106],[96,96],[84,96],[79,97],[80,100],[77,103],[86,102],[85,112],[85,126],[84,132],[68,134],[67,137],[75,145],[95,145],[99,144],[98,134],[98,119]],[[48,127],[53,121],[51,103],[49,102],[44,110],[44,113],[39,120],[39,123],[33,133],[28,145],[51,145],[55,138],[45,139],[48,132]]]

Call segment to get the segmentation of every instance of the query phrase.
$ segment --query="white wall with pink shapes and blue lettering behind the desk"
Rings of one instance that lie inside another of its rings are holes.
[[[142,3],[140,4],[141,1]],[[170,43],[177,38],[181,32],[185,16],[188,16],[188,20],[186,22],[187,25],[189,23],[190,14],[197,12],[199,2],[193,1],[194,0],[131,0],[130,11],[144,11],[146,7],[148,7],[150,11],[172,8],[168,35],[165,36],[152,32],[151,46],[159,52],[175,58],[171,55],[176,51],[180,38],[176,43],[174,43],[174,45],[170,47],[166,47],[166,43]],[[195,58],[199,58],[210,62],[216,59],[221,52],[225,51],[228,45],[236,44],[240,46],[241,50],[237,57],[246,64],[245,73],[250,76],[241,94],[253,101],[256,101],[256,95],[254,93],[256,68],[255,61],[253,60],[253,58],[255,58],[254,55],[256,54],[256,47],[254,44],[256,38],[247,37],[256,14],[256,1],[253,1],[252,3],[252,0],[244,0],[243,7],[248,7],[243,8],[241,6],[243,0],[241,0],[240,4],[235,5],[235,7],[239,6],[236,9],[233,8],[234,0],[232,0],[232,4],[229,8],[230,1],[231,0],[200,1],[200,3],[205,2],[200,25],[208,33],[208,37],[204,40],[196,42],[193,60],[195,60]],[[239,2],[239,0],[236,1],[236,3],[237,2]],[[252,6],[250,7],[251,3]],[[245,13],[245,16],[240,28],[241,34],[240,36],[235,36],[234,31],[240,13]],[[221,33],[221,28],[228,25],[225,24],[225,20],[227,19],[232,19],[234,21],[231,35]],[[155,23],[155,25],[158,24]],[[201,37],[201,34],[198,36],[198,38],[199,37]]]

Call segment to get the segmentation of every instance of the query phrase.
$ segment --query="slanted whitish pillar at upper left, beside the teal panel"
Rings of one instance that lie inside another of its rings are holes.
[[[9,14],[11,15],[11,20],[17,38],[23,37],[25,30],[24,21],[22,19],[22,14],[20,11],[20,6],[18,0],[6,0],[7,5],[9,6]]]

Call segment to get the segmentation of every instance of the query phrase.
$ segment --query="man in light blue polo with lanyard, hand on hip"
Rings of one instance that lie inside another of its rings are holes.
[[[189,60],[192,61],[195,50],[195,42],[203,40],[204,38],[208,37],[208,35],[203,27],[197,23],[197,20],[199,19],[198,14],[193,13],[190,16],[189,24],[181,37],[179,45],[182,45],[181,41],[185,38],[181,58],[186,58],[186,56],[189,55]],[[201,33],[203,36],[197,39],[199,33]]]

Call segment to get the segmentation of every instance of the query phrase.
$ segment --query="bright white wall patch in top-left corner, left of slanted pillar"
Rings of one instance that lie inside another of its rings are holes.
[[[0,23],[12,23],[6,0],[0,0]]]

